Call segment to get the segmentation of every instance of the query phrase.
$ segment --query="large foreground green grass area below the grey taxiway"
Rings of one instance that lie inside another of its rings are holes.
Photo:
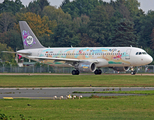
[[[83,98],[75,100],[0,100],[0,113],[32,120],[154,119],[154,95]],[[30,106],[27,106],[30,104]]]

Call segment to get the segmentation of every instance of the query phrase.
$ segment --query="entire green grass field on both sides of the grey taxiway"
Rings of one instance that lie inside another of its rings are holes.
[[[154,76],[0,76],[0,87],[89,87],[90,85],[93,87],[154,87]],[[93,98],[80,100],[0,100],[0,114],[7,115],[8,120],[21,120],[20,114],[24,115],[25,120],[153,120],[154,95],[152,94],[154,92],[132,92],[148,95],[93,96]]]

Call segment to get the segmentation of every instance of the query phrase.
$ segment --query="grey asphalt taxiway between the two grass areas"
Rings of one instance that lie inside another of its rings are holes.
[[[103,94],[103,93],[86,93],[76,94],[74,91],[134,91],[134,90],[154,90],[154,87],[53,87],[53,88],[0,88],[0,99],[55,99],[63,96],[64,99],[68,95],[76,95],[83,97],[97,96],[129,96],[139,94]]]

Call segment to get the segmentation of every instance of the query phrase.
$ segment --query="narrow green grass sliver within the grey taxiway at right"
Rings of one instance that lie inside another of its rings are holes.
[[[142,90],[142,91],[74,91],[73,93],[114,93],[114,94],[145,94],[145,95],[154,95],[154,90]]]

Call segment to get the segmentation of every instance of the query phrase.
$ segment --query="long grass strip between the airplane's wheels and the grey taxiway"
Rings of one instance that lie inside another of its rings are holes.
[[[1,75],[0,87],[154,87],[154,76]]]

